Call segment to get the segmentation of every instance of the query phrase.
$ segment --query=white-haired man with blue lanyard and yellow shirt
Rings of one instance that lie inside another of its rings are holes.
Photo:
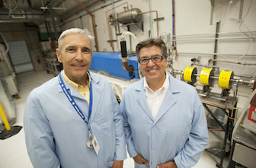
[[[56,55],[63,71],[27,98],[24,132],[34,167],[123,167],[123,117],[110,83],[88,71],[91,38],[78,28],[62,32]]]

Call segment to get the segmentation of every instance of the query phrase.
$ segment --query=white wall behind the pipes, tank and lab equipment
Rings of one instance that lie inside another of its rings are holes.
[[[256,29],[256,2],[244,1],[242,19],[239,20],[240,1],[234,0],[232,2],[226,0],[215,0],[213,5],[213,24],[210,24],[211,18],[211,1],[206,0],[179,0],[175,1],[175,16],[176,16],[176,35],[177,35],[177,51],[178,60],[174,59],[174,69],[184,71],[187,66],[191,65],[190,59],[200,57],[200,64],[208,65],[209,59],[213,59],[215,47],[215,33],[216,23],[220,22],[219,38],[245,38],[245,39],[232,39],[232,40],[219,40],[217,59],[229,60],[232,62],[248,62],[256,63],[256,41],[248,36],[245,36],[242,31],[255,31]],[[168,34],[173,34],[172,24],[172,2],[170,0],[130,0],[130,1],[106,1],[89,8],[95,16],[98,33],[98,46],[100,51],[113,51],[110,43],[109,32],[107,30],[106,15],[114,14],[123,11],[123,7],[128,4],[128,7],[139,8],[142,12],[158,11],[158,17],[164,17],[164,20],[158,21],[159,36],[171,46],[171,41],[168,41]],[[117,7],[119,6],[120,7]],[[250,7],[248,11],[248,8]],[[105,7],[107,6],[107,7]],[[117,8],[116,8],[117,7]],[[115,8],[114,10],[111,10]],[[152,19],[150,15],[152,14]],[[144,31],[139,29],[136,25],[130,26],[130,31],[134,33],[139,41],[145,40],[149,36],[157,36],[157,28],[155,19],[155,12],[151,14],[142,14],[142,21],[144,24]],[[87,28],[92,31],[91,17],[85,11],[82,11],[70,17],[66,24],[62,25],[62,29],[66,30],[70,27]],[[239,28],[240,27],[240,28]],[[120,27],[120,32],[125,31],[126,27]],[[241,29],[241,30],[240,30]],[[111,26],[113,33],[114,51],[120,51],[120,36],[115,34],[114,26]],[[235,33],[238,32],[238,33]],[[199,36],[198,34],[206,34]],[[255,32],[248,33],[251,36],[256,36]],[[181,36],[186,35],[186,36]],[[130,47],[130,37],[126,36],[127,49],[135,50],[136,42],[132,38],[132,46]],[[247,39],[246,39],[247,38]],[[203,39],[203,40],[202,40]],[[210,39],[210,40],[205,40]],[[182,41],[181,41],[182,40]],[[95,48],[94,48],[95,50]],[[200,54],[206,53],[206,54]],[[229,55],[226,55],[229,54]],[[256,75],[256,66],[238,65],[217,62],[219,70],[234,71],[235,74],[249,74]],[[200,73],[201,67],[198,67]],[[199,82],[198,82],[199,83]],[[200,85],[200,84],[199,84]],[[215,84],[218,91],[218,86]],[[251,89],[248,85],[239,87],[239,94],[248,97],[251,94]]]

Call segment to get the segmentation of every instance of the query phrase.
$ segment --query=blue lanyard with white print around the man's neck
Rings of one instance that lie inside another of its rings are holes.
[[[83,113],[79,109],[78,105],[75,103],[75,100],[73,100],[73,98],[69,94],[68,90],[65,87],[65,84],[63,84],[62,78],[60,77],[60,74],[59,74],[59,85],[62,87],[62,90],[66,94],[66,97],[68,98],[68,100],[72,104],[72,106],[74,107],[75,111],[78,113],[79,116],[81,116],[81,118],[86,122],[86,124],[88,124],[90,116],[91,116],[91,106],[92,106],[92,87],[91,87],[91,83],[90,83],[90,104],[89,104],[88,121],[86,121],[85,116],[83,115]],[[90,131],[89,126],[88,126],[88,129]]]

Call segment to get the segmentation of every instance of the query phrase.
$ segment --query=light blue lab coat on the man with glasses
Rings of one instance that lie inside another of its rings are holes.
[[[142,155],[149,167],[174,160],[194,166],[208,144],[206,116],[197,90],[168,73],[170,86],[155,119],[146,100],[143,79],[125,90],[120,107],[130,157]],[[148,167],[135,163],[135,167]]]

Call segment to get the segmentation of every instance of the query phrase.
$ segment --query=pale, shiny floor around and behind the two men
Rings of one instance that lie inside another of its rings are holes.
[[[27,72],[18,74],[19,97],[14,100],[16,107],[16,122],[14,125],[23,126],[23,113],[27,96],[34,87],[38,87],[45,81],[53,78],[53,74],[47,74],[46,71]],[[0,140],[0,168],[32,168],[30,159],[27,155],[27,149],[24,140],[24,129],[10,138]],[[124,168],[133,168],[134,163],[132,158],[124,160]],[[216,167],[216,162],[206,152],[203,153],[199,162],[194,168],[213,168]]]

